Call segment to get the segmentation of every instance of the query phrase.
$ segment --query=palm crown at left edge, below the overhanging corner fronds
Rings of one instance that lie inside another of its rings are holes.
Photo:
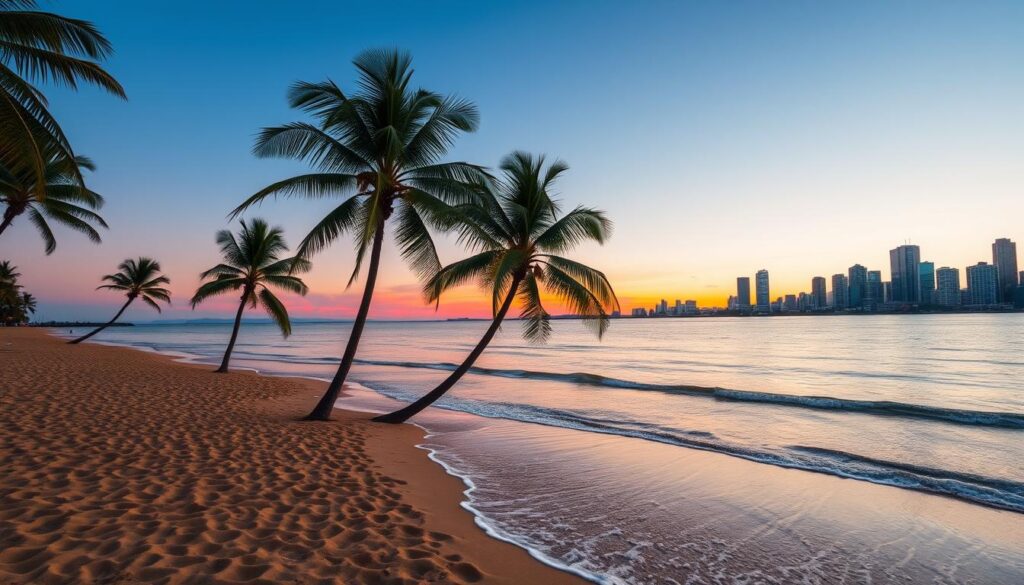
[[[90,171],[95,169],[92,161],[85,157],[76,157],[74,166]],[[0,234],[15,217],[28,213],[29,220],[46,244],[47,254],[52,253],[57,246],[47,218],[81,232],[89,240],[99,243],[99,233],[93,224],[101,227],[108,225],[93,210],[102,207],[103,198],[83,186],[79,182],[78,172],[80,171],[72,172],[57,154],[51,154],[46,163],[44,190],[39,192],[34,173],[14,173],[0,167],[0,203],[5,206]]]

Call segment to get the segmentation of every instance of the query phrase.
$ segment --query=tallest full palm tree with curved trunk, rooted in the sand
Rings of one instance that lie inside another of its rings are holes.
[[[461,132],[477,127],[476,107],[410,85],[409,53],[371,50],[359,54],[358,89],[347,94],[332,81],[300,82],[289,93],[293,108],[316,120],[265,128],[254,152],[259,157],[307,161],[314,172],[270,184],[233,212],[237,216],[269,196],[323,199],[341,203],[317,223],[296,255],[306,258],[346,233],[355,239],[355,281],[367,249],[370,265],[359,309],[338,371],[307,420],[328,420],[348,376],[370,312],[385,222],[395,216],[395,239],[402,257],[421,277],[440,267],[427,224],[444,228],[450,204],[475,197],[471,183],[485,175],[475,165],[440,162]]]

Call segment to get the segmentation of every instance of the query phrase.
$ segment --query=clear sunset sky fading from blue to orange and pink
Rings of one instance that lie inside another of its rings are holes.
[[[26,220],[0,236],[40,299],[39,320],[98,320],[96,291],[126,257],[159,259],[174,303],[131,321],[230,317],[191,310],[214,235],[246,197],[303,172],[256,159],[256,132],[304,120],[297,80],[355,77],[367,48],[413,53],[415,83],[473,100],[481,123],[452,160],[497,166],[513,150],[569,164],[567,207],[601,208],[604,245],[573,257],[603,270],[624,310],[660,298],[724,305],[735,279],[771,274],[772,297],[854,263],[889,278],[888,251],[964,268],[991,243],[1024,241],[1024,3],[1021,2],[188,2],[65,0],[113,42],[122,101],[44,86],[78,153],[97,164],[103,243],[59,231],[43,253]],[[297,243],[330,201],[249,212]],[[443,262],[464,254],[441,238]],[[1024,253],[1024,250],[1022,250]],[[349,241],[313,258],[293,317],[350,318],[361,281]],[[1024,266],[1022,266],[1024,267]],[[467,287],[424,305],[386,246],[372,319],[484,317]]]

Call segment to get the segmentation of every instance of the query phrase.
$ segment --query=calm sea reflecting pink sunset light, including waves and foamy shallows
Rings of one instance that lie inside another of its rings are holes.
[[[352,377],[373,392],[343,403],[421,394],[485,326],[370,325]],[[329,377],[347,331],[244,326],[233,364]],[[227,333],[98,339],[215,363]],[[508,323],[439,403],[488,418],[421,422],[490,530],[549,560],[609,582],[1024,582],[1024,315],[518,333]]]

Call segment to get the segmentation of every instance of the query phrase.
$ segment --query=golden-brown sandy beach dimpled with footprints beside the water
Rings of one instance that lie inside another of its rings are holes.
[[[580,583],[322,384],[0,329],[0,583]]]

